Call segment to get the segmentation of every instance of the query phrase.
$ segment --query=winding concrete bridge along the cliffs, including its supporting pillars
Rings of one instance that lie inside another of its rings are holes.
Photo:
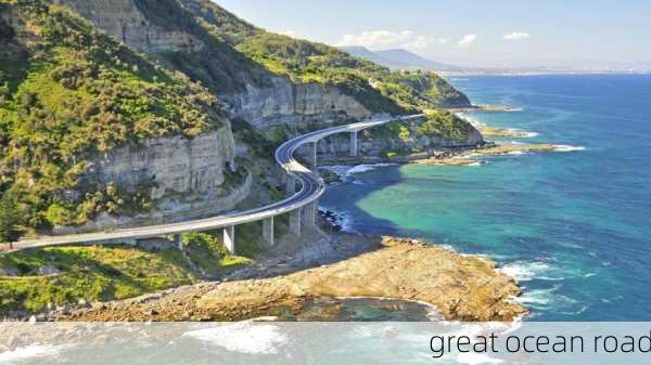
[[[352,125],[332,127],[319,131],[296,136],[283,143],[276,151],[276,161],[288,172],[288,195],[284,200],[268,206],[226,213],[213,218],[193,220],[180,223],[159,224],[133,229],[120,229],[112,232],[99,232],[76,235],[43,236],[34,239],[24,239],[13,245],[9,251],[23,250],[36,247],[49,247],[60,245],[111,245],[130,244],[136,245],[138,239],[154,238],[174,235],[177,244],[182,248],[180,235],[187,232],[204,232],[224,229],[224,243],[226,247],[235,252],[235,225],[263,221],[263,235],[268,244],[273,245],[273,218],[290,213],[290,229],[301,234],[303,224],[314,225],[317,214],[317,200],[326,191],[326,184],[321,177],[301,165],[294,158],[298,147],[312,144],[311,164],[317,162],[317,142],[327,136],[337,133],[350,133],[350,153],[357,155],[357,132],[360,130],[382,126],[392,120],[408,120],[423,116],[422,114],[408,117],[380,120],[361,121]],[[296,192],[296,182],[301,188]]]

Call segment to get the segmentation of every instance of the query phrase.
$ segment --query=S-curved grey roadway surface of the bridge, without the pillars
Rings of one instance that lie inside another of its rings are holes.
[[[316,201],[326,191],[326,184],[323,183],[321,177],[318,173],[310,171],[307,167],[301,165],[294,158],[294,153],[296,152],[296,149],[298,149],[298,147],[308,143],[316,143],[319,140],[333,134],[358,132],[367,128],[385,125],[393,120],[408,120],[419,118],[422,116],[422,114],[418,114],[401,118],[392,118],[376,121],[361,121],[352,125],[337,126],[303,134],[286,141],[276,151],[276,161],[285,170],[286,173],[293,175],[301,183],[301,188],[294,195],[278,203],[273,203],[259,208],[243,211],[234,211],[213,218],[187,222],[140,226],[132,229],[120,229],[111,232],[98,232],[62,236],[42,236],[33,239],[24,239],[15,243],[13,245],[13,249],[9,251],[72,244],[118,244],[124,243],[124,240],[153,238],[187,232],[212,231],[245,223],[257,222],[271,217],[289,213]]]

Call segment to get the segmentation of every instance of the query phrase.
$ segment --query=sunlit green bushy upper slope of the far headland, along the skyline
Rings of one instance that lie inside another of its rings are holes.
[[[265,31],[209,0],[178,1],[212,35],[296,82],[335,84],[375,108],[391,104],[378,99],[375,90],[407,110],[470,106],[463,93],[434,73],[392,73],[333,47]]]

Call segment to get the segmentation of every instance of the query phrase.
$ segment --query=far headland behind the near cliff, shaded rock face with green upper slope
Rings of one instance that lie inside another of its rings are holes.
[[[238,120],[240,141],[259,141],[252,132],[261,132],[273,144],[379,114],[470,106],[435,74],[392,73],[326,44],[267,32],[208,0],[59,1],[206,86]]]

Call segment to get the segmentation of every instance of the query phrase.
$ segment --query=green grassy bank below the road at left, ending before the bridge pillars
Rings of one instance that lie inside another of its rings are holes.
[[[56,247],[0,256],[0,315],[139,296],[195,281],[177,249]]]

